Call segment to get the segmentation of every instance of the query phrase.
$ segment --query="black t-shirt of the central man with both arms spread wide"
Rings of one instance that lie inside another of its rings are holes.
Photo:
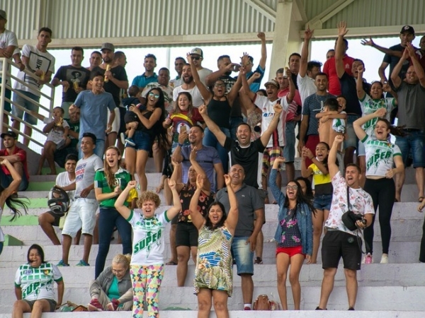
[[[238,164],[244,168],[244,183],[258,189],[261,185],[263,151],[266,148],[261,143],[261,139],[251,141],[249,146],[242,147],[239,145],[239,141],[227,137],[224,148],[229,151],[230,166]]]

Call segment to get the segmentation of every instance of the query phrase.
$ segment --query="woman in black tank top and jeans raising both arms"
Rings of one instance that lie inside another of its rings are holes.
[[[229,93],[227,93],[225,82],[221,79],[215,81],[214,86],[210,91],[200,81],[199,74],[196,66],[193,64],[193,57],[191,57],[191,54],[188,54],[187,58],[188,62],[191,64],[193,81],[200,91],[200,95],[202,95],[205,105],[207,105],[208,117],[210,117],[212,122],[215,122],[215,124],[220,127],[220,130],[227,137],[230,137],[230,111],[232,110],[234,100],[237,98],[239,89],[242,87],[242,80],[240,76],[238,76],[237,81],[234,83]],[[203,144],[204,146],[210,146],[217,149],[218,155],[220,156],[223,164],[223,169],[227,171],[229,161],[227,151],[220,145],[217,138],[215,138],[214,134],[212,134],[208,127],[205,128],[204,131]]]

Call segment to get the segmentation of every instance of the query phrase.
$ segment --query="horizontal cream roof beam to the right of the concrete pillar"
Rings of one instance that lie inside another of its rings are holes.
[[[364,28],[349,28],[346,37],[376,37],[399,35],[404,25],[373,26]],[[425,24],[412,25],[416,33],[423,33]],[[304,37],[304,31],[300,31],[300,37]],[[338,29],[319,29],[314,30],[315,39],[334,39],[338,35]]]

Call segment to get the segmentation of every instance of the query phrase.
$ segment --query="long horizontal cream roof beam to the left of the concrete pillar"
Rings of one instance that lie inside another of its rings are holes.
[[[267,39],[273,39],[273,32],[266,32]],[[83,39],[53,39],[49,44],[50,49],[62,49],[67,47],[101,47],[103,42],[111,42],[115,47],[158,47],[169,45],[208,45],[226,44],[239,42],[259,43],[257,33],[229,33],[229,34],[205,34],[205,35],[172,35],[159,37],[101,37]],[[18,40],[19,47],[24,44],[37,45],[37,40]]]

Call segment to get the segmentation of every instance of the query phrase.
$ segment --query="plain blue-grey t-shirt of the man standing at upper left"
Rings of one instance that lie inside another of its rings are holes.
[[[112,95],[106,92],[95,95],[91,90],[84,90],[74,104],[81,110],[79,138],[91,132],[97,139],[105,140],[108,110],[113,112],[116,107]]]

